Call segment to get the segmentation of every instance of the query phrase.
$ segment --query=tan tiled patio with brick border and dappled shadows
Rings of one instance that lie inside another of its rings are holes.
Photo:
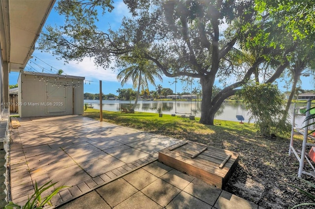
[[[53,207],[240,208],[258,206],[160,162],[178,139],[69,115],[19,118],[11,129],[11,199],[23,204],[35,182],[66,185]],[[260,208],[260,207],[259,207]]]

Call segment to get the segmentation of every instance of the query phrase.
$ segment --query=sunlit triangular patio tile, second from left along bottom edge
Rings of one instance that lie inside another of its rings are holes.
[[[137,192],[124,202],[118,204],[115,209],[161,209],[156,202],[145,196],[142,192]]]

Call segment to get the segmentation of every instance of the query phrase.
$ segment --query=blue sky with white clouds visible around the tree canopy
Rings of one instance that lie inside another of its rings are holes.
[[[122,1],[115,0],[114,6],[115,9],[111,13],[106,13],[105,17],[100,19],[101,22],[99,22],[99,26],[101,26],[101,29],[106,30],[109,27],[112,29],[118,28],[123,16],[128,14],[126,5]],[[53,8],[45,25],[61,25],[63,22],[63,17],[58,15]],[[44,27],[43,30],[45,29]],[[87,82],[84,85],[84,92],[98,93],[99,80],[102,80],[102,92],[104,94],[116,94],[116,90],[118,88],[132,88],[131,83],[121,86],[121,83],[116,78],[118,72],[95,66],[93,58],[87,57],[80,63],[76,61],[70,61],[69,63],[65,64],[63,60],[57,60],[52,54],[40,52],[35,48],[35,51],[33,52],[33,58],[27,64],[25,70],[42,72],[43,68],[45,73],[56,73],[58,69],[62,69],[67,75],[85,77]],[[19,74],[15,72],[9,74],[10,85],[17,83],[18,75]],[[310,79],[310,77],[302,78],[303,89],[314,89]],[[163,82],[156,80],[156,85],[158,84],[161,84],[163,88],[171,88],[175,93],[174,78],[167,78],[163,76]],[[216,81],[215,84],[219,87],[222,87],[218,81]],[[192,88],[195,86],[198,87],[197,80],[193,82]],[[279,83],[279,88],[284,91],[285,89],[283,86],[284,83]],[[201,89],[200,86],[198,88]],[[183,92],[185,90],[179,82],[177,83],[176,89],[177,92]],[[149,90],[155,90],[155,87],[150,85]],[[190,91],[190,88],[188,90],[186,89],[186,91]]]

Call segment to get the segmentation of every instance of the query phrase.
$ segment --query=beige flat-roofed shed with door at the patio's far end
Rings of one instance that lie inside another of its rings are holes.
[[[21,71],[20,117],[83,114],[84,77]]]

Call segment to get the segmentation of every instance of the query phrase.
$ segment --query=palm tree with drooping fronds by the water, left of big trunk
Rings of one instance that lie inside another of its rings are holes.
[[[127,61],[129,60],[126,60],[125,62]],[[132,80],[133,88],[137,88],[136,101],[133,104],[132,109],[134,109],[138,103],[140,88],[148,88],[148,83],[155,86],[155,77],[162,81],[162,76],[159,74],[157,66],[149,60],[134,61],[131,66],[128,66],[119,72],[117,78],[121,81],[122,86],[128,80]]]

